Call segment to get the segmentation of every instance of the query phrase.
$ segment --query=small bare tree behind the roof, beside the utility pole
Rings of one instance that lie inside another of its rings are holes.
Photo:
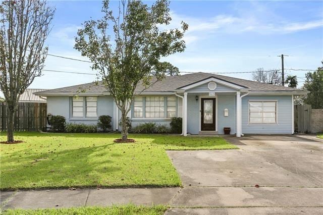
[[[252,73],[252,80],[261,83],[282,85],[282,74],[277,70],[263,70],[258,68],[256,72]]]

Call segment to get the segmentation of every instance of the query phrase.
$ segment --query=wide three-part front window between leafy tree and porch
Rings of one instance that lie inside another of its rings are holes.
[[[134,118],[172,118],[177,116],[176,96],[136,96]]]

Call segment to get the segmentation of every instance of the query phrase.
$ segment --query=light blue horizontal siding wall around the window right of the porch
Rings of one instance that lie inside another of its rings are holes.
[[[277,100],[276,124],[249,124],[249,100]],[[292,133],[292,96],[261,95],[242,98],[243,134],[291,134]]]

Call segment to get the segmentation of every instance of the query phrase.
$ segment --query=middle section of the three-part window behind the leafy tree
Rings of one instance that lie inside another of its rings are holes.
[[[146,118],[165,117],[164,96],[146,97],[145,117]]]

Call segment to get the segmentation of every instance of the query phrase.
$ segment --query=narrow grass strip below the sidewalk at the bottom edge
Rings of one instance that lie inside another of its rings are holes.
[[[16,214],[164,214],[167,210],[167,206],[158,205],[152,207],[124,205],[124,206],[111,206],[111,207],[72,207],[72,208],[60,208],[60,209],[36,209],[36,210],[23,210],[23,209],[9,209],[5,210],[4,214],[16,215]]]

